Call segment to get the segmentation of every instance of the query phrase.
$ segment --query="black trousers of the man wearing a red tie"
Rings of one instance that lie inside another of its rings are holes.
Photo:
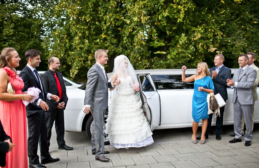
[[[65,126],[64,126],[64,109],[56,109],[54,111],[46,111],[47,123],[47,144],[50,145],[51,129],[55,121],[55,128],[57,134],[58,147],[62,147],[66,142],[64,140]]]

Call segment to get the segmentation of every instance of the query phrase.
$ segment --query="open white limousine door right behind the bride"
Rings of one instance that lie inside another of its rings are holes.
[[[150,76],[145,74],[138,75],[140,81],[140,98],[142,100],[142,109],[147,117],[151,130],[155,130],[161,122],[160,97],[152,84]]]

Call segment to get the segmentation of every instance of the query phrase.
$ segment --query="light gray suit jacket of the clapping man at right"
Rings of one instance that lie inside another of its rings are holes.
[[[252,86],[256,80],[256,70],[247,66],[239,76],[240,69],[237,69],[233,76],[233,81],[238,82],[238,84],[237,87],[234,87],[232,103],[235,103],[238,96],[241,105],[253,105]]]

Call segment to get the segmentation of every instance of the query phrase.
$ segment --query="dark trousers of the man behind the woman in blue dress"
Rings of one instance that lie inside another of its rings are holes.
[[[224,100],[226,102],[226,100]],[[223,127],[223,115],[225,111],[225,106],[220,107],[220,117],[216,118],[216,127],[215,127],[215,135],[221,135],[222,133],[222,127]],[[214,112],[214,110],[213,110]],[[210,128],[211,128],[211,122],[212,122],[212,117],[215,115],[214,113],[209,115],[208,118],[208,125],[207,125],[207,130],[205,132],[205,135],[209,135],[210,133]]]

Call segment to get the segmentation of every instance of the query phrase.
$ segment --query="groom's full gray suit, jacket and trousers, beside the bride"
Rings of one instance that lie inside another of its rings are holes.
[[[108,107],[108,87],[112,88],[112,85],[111,82],[106,82],[108,77],[104,75],[97,63],[89,69],[87,79],[84,104],[91,105],[90,109],[94,117],[94,128],[92,129],[91,138],[92,153],[95,152],[95,158],[99,158],[104,156],[104,114]]]

